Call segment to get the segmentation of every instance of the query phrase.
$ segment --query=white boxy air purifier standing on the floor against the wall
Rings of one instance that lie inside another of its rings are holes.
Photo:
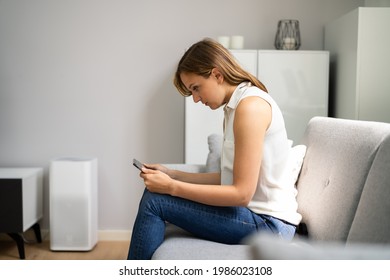
[[[50,164],[50,249],[90,251],[98,240],[97,159]]]

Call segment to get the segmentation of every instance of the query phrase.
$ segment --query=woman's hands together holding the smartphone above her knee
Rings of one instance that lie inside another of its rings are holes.
[[[173,179],[169,177],[167,172],[169,172],[169,169],[160,164],[145,164],[140,177],[144,179],[148,191],[171,194]]]

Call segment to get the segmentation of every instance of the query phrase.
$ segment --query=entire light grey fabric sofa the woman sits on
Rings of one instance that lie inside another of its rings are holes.
[[[257,233],[225,245],[168,225],[153,259],[390,259],[390,124],[315,117],[301,144],[303,220],[292,242]]]

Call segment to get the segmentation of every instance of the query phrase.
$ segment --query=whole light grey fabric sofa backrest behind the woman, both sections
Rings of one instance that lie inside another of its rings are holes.
[[[313,118],[297,182],[309,238],[390,242],[390,124]]]

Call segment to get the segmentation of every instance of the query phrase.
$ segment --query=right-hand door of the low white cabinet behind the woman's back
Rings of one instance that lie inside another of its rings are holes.
[[[295,144],[312,117],[328,115],[328,76],[326,51],[259,51],[258,78],[282,110]]]

